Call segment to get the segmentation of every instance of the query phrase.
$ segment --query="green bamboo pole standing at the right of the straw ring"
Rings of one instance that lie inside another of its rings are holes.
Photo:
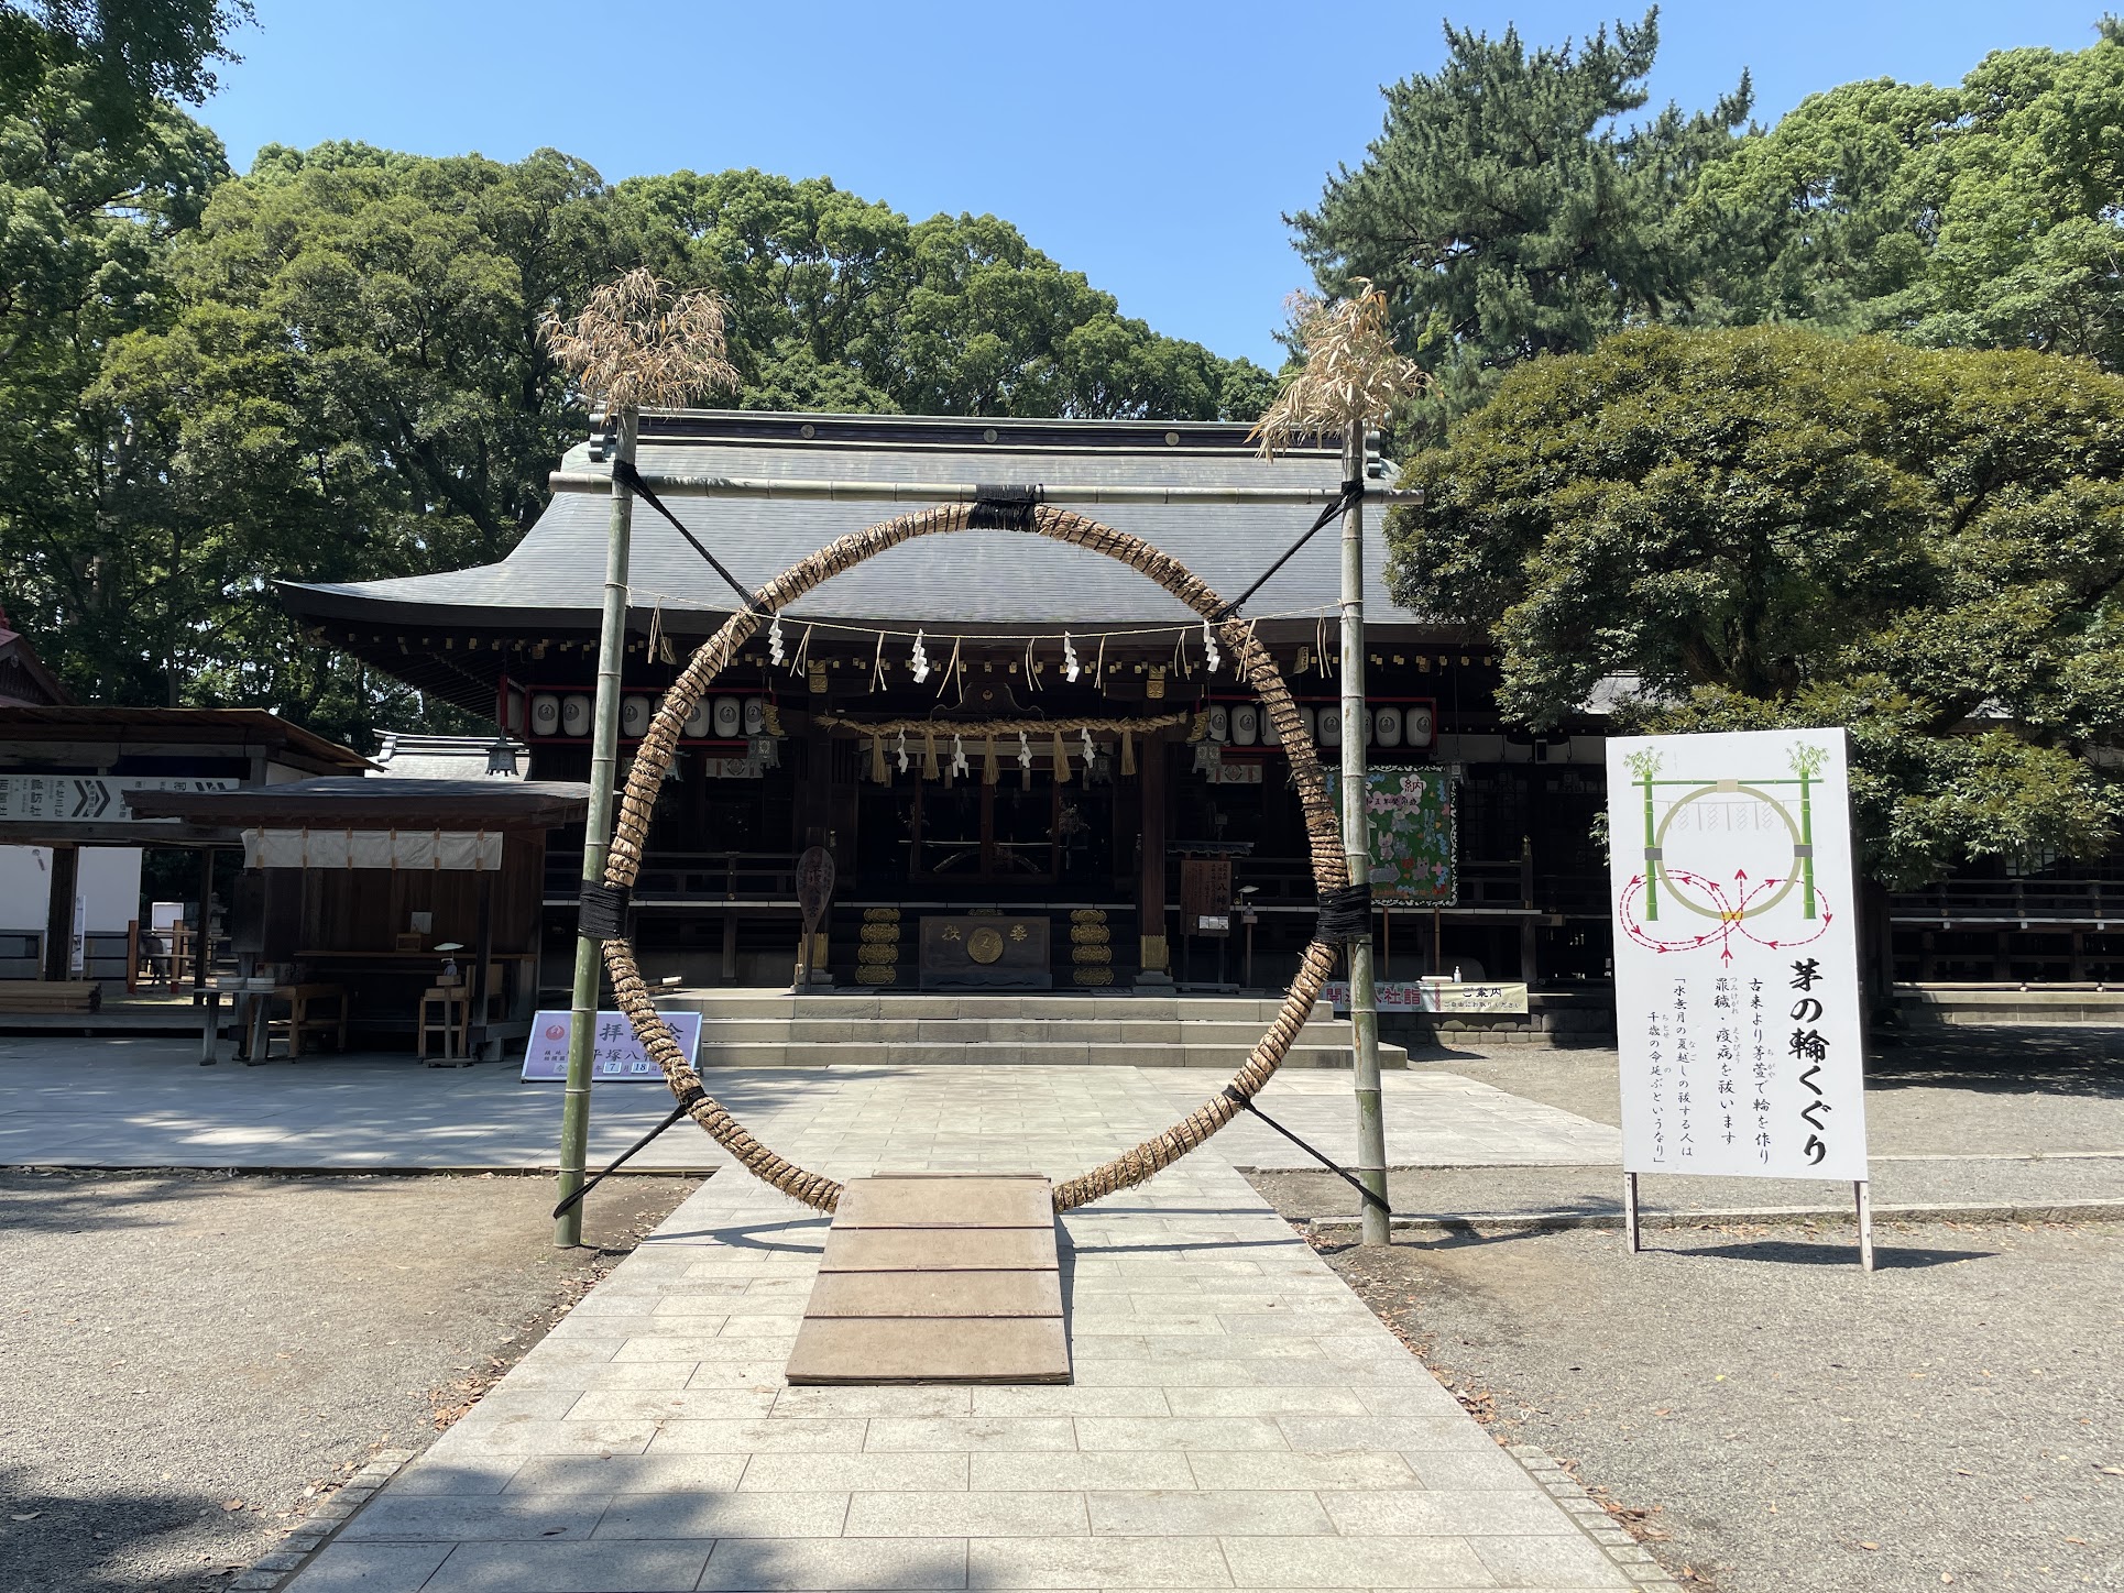
[[[1344,427],[1342,478],[1364,480],[1364,425]],[[1364,499],[1342,516],[1342,856],[1351,881],[1372,877],[1372,816],[1364,767]],[[1349,943],[1349,1041],[1357,1083],[1357,1181],[1378,1196],[1364,1202],[1364,1243],[1391,1243],[1387,1221],[1387,1124],[1378,1083],[1378,990],[1372,981],[1372,920]]]

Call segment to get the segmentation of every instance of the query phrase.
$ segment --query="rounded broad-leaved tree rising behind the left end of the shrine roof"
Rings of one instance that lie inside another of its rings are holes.
[[[138,607],[164,622],[127,644],[159,650],[185,701],[346,733],[378,695],[406,714],[308,652],[268,582],[503,556],[584,427],[537,316],[612,259],[603,185],[552,151],[261,151],[170,251],[176,312],[117,342],[98,387],[161,461],[172,550]]]

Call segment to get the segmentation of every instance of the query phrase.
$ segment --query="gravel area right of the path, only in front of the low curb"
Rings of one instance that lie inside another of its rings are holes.
[[[1691,1228],[1328,1260],[1691,1587],[2124,1587],[2124,1226]]]

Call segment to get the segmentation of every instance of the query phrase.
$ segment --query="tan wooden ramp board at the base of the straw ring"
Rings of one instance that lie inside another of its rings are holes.
[[[1068,1383],[1054,1185],[850,1179],[790,1383]]]

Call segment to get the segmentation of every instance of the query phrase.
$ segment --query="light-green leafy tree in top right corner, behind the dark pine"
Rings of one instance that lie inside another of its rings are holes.
[[[1682,225],[1744,219],[1735,321],[1808,321],[2124,370],[2124,42],[1988,55],[1958,87],[1846,83],[1706,168]]]

